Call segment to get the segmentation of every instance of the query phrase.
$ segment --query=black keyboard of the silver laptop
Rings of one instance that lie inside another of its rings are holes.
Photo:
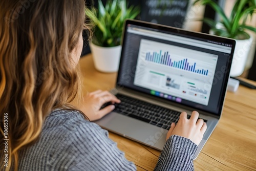
[[[121,103],[116,103],[115,112],[139,119],[141,121],[169,130],[172,122],[177,123],[180,112],[162,108],[161,106],[147,103],[124,95],[116,95]],[[189,116],[188,116],[189,117]]]

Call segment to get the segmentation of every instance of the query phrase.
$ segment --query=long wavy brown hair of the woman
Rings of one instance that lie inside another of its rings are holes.
[[[2,153],[8,138],[6,170],[17,170],[20,149],[38,139],[51,110],[72,108],[79,72],[71,52],[84,29],[84,8],[84,0],[0,1],[0,147]]]

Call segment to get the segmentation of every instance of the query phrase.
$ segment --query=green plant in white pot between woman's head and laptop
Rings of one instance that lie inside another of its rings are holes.
[[[98,9],[86,9],[86,15],[95,25],[89,46],[97,70],[118,70],[124,21],[127,18],[134,19],[139,13],[138,7],[127,7],[126,0],[108,0],[105,6],[99,0]]]

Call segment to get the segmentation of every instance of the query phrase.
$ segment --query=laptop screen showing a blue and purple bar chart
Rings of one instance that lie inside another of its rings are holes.
[[[117,83],[220,114],[234,41],[127,21]]]

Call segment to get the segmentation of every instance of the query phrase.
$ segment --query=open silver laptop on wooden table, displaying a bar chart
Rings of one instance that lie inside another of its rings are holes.
[[[191,115],[196,110],[207,123],[197,157],[221,117],[235,44],[233,39],[127,20],[112,90],[122,102],[96,123],[161,151],[170,123],[182,111]]]

